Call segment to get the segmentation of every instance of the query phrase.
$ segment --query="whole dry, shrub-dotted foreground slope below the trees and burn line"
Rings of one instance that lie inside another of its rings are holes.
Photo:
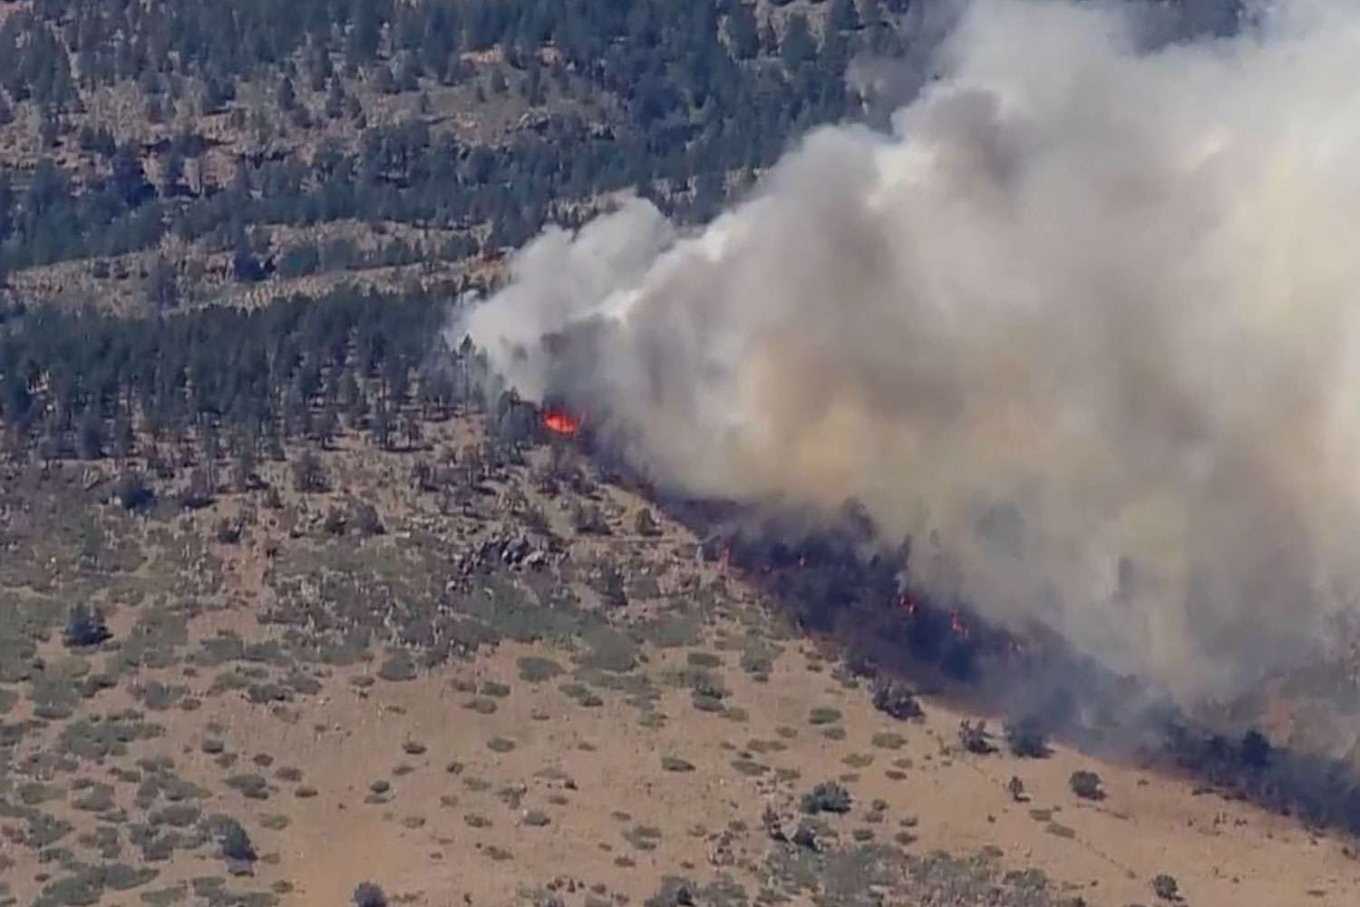
[[[1125,906],[1159,876],[1197,906],[1360,899],[1340,836],[1061,745],[964,752],[971,717],[930,696],[879,711],[832,645],[568,449],[450,495],[479,432],[341,439],[330,491],[272,464],[194,510],[12,469],[5,903],[341,904],[373,883],[438,906]],[[102,645],[64,645],[80,601]]]

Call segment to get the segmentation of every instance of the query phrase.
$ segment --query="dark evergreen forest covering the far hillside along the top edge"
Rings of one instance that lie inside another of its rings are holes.
[[[166,234],[238,249],[252,224],[345,218],[491,224],[495,250],[521,243],[555,203],[627,186],[704,218],[729,174],[770,163],[790,137],[851,112],[846,63],[899,50],[906,7],[827,0],[775,18],[774,7],[758,16],[740,0],[38,0],[0,26],[0,121],[26,106],[41,146],[22,181],[0,181],[0,261],[18,269],[116,256]],[[509,73],[549,114],[549,95],[570,90],[608,98],[609,116],[549,116],[492,146],[431,129],[431,117],[366,128],[355,86],[378,95],[457,86],[479,78],[472,60],[488,50],[506,69],[487,80],[488,103],[509,91]],[[355,140],[241,156],[220,185],[190,186],[185,163],[214,141],[192,125],[150,150],[98,124],[73,125],[91,92],[129,83],[148,98],[152,122],[185,97],[201,117],[243,118],[245,80],[265,86],[273,112],[295,126],[336,120]],[[302,103],[303,91],[320,109]],[[72,147],[97,162],[94,178],[78,181],[58,163]],[[148,156],[163,174],[155,185]],[[238,272],[260,276],[249,264]]]

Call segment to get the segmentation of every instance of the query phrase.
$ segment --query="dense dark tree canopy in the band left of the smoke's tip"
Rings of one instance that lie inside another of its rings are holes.
[[[253,464],[269,439],[302,437],[339,397],[354,371],[388,386],[420,381],[439,336],[445,298],[430,294],[388,296],[352,290],[318,301],[290,299],[267,309],[200,309],[170,317],[116,318],[63,309],[0,309],[0,423],[12,437],[37,443],[45,434],[52,456],[75,456],[75,428],[84,453],[103,453],[107,437],[117,456],[118,426],[143,420],[152,435],[196,437],[204,453],[228,453]],[[339,364],[343,367],[330,369]],[[466,375],[461,403],[479,393],[484,364],[460,366]],[[38,375],[44,379],[38,381]],[[292,392],[296,390],[296,394]],[[362,394],[359,386],[352,386]],[[291,403],[290,403],[291,401]],[[288,407],[295,403],[295,409]],[[44,415],[50,413],[50,415]],[[110,426],[113,430],[110,431]],[[166,469],[155,446],[143,451],[150,472]],[[299,484],[325,487],[314,457],[299,457]],[[215,494],[208,466],[190,477],[182,498],[204,506]],[[167,476],[169,477],[169,476]],[[143,476],[131,472],[113,492],[124,506],[151,503]],[[126,492],[126,494],[122,494]],[[131,502],[131,503],[129,503]]]

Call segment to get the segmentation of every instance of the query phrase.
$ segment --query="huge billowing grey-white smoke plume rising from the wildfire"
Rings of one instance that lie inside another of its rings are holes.
[[[979,0],[891,133],[808,135],[696,233],[549,228],[452,330],[672,488],[857,498],[937,534],[929,590],[1240,692],[1360,590],[1352,10],[1148,50],[1121,8]]]

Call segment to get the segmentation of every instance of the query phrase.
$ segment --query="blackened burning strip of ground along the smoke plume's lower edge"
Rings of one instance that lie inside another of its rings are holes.
[[[702,558],[753,585],[804,632],[832,643],[851,673],[879,688],[910,684],[1031,736],[1179,775],[1200,793],[1212,790],[1360,835],[1355,766],[1274,745],[1240,721],[1190,714],[1043,626],[1001,630],[967,602],[932,601],[902,587],[910,558],[929,552],[913,551],[910,541],[885,548],[854,504],[830,525],[824,515],[730,503],[660,506],[703,538]]]

